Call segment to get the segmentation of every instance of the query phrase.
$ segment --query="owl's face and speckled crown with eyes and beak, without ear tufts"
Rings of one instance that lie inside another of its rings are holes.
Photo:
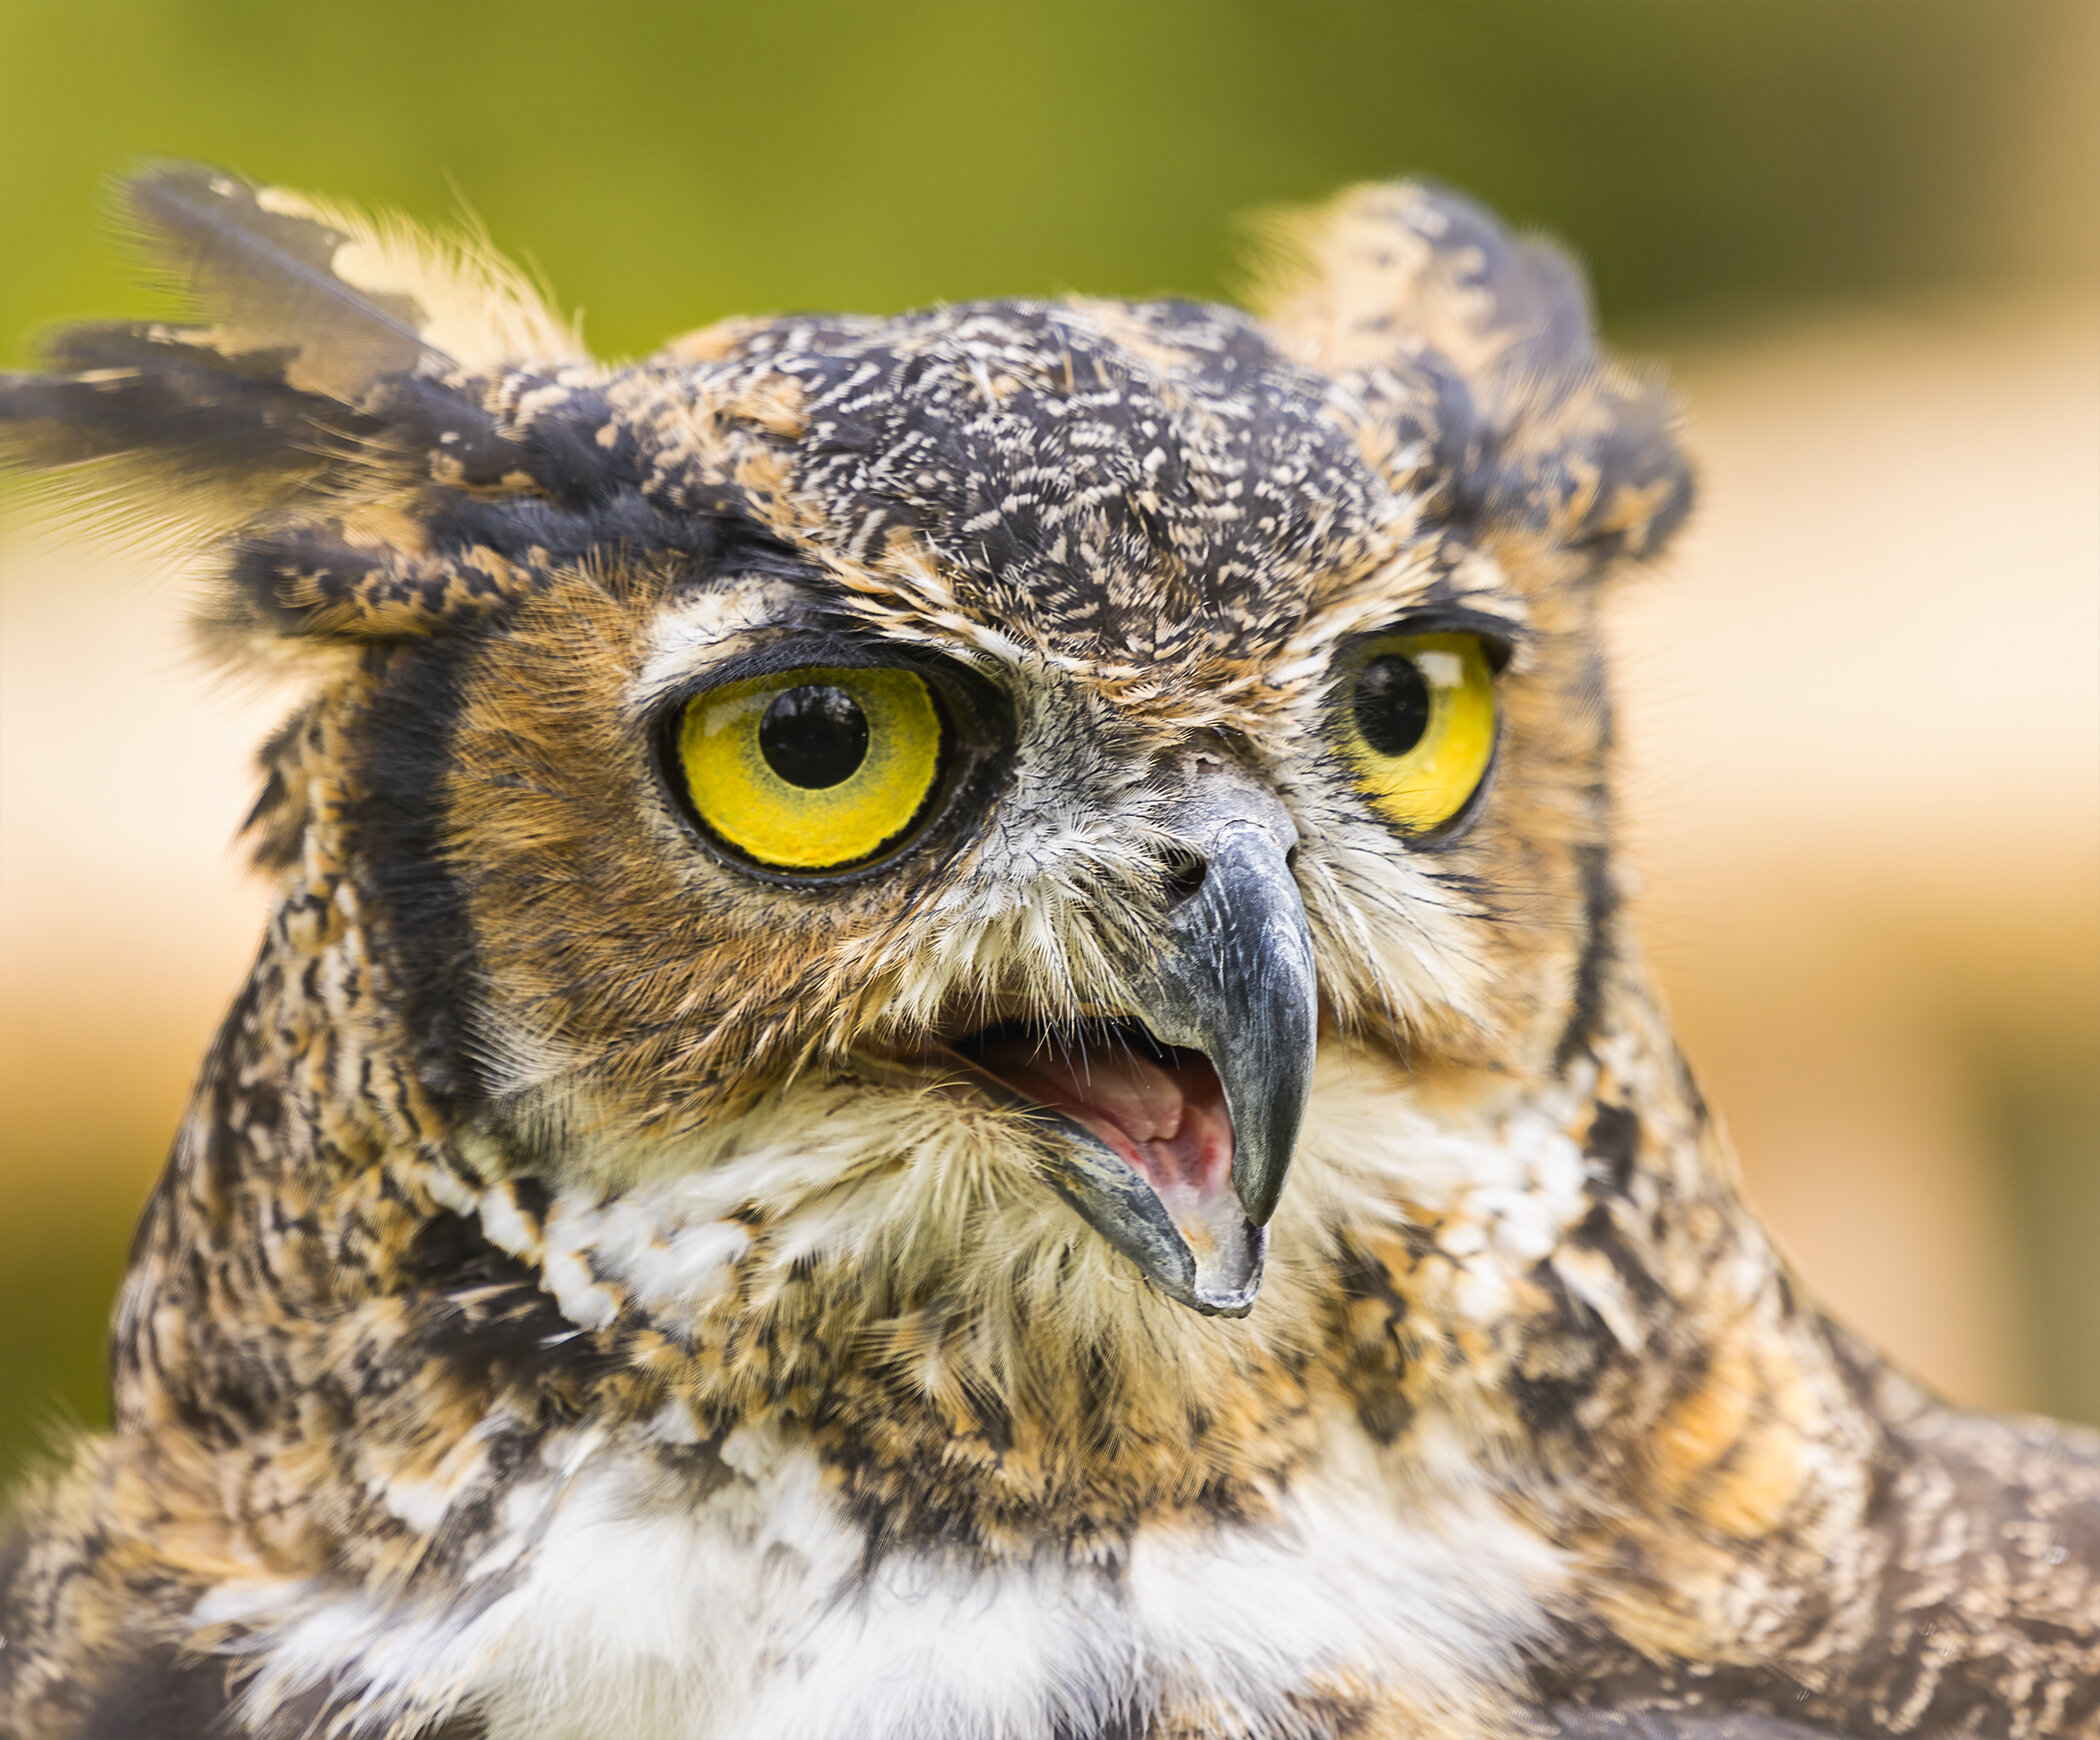
[[[1323,1028],[1544,1066],[1600,837],[1590,625],[1250,321],[764,327],[607,399],[720,418],[777,506],[601,544],[424,655],[466,1045],[523,1152],[911,1085],[1012,1112],[979,1140],[1016,1173],[1243,1312]],[[716,409],[752,401],[794,416]]]

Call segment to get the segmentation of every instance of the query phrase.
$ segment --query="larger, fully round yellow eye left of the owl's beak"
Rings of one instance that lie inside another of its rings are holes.
[[[911,831],[941,781],[945,733],[926,678],[794,670],[687,703],[678,758],[693,812],[769,869],[834,871]]]

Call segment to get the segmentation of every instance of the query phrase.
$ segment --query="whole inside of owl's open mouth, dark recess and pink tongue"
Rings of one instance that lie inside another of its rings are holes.
[[[958,1052],[1100,1138],[1159,1196],[1201,1264],[1233,1196],[1233,1117],[1201,1052],[1161,1045],[1138,1022],[1002,1022]],[[1239,1215],[1231,1219],[1237,1224]]]

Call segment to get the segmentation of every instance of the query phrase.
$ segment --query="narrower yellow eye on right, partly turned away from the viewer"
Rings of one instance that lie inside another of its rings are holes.
[[[1388,634],[1363,644],[1336,691],[1357,785],[1394,827],[1426,831],[1472,798],[1495,754],[1495,676],[1472,634]]]

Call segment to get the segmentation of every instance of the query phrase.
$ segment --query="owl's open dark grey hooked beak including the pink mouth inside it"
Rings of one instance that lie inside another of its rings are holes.
[[[1172,821],[1201,879],[1182,879],[1130,1018],[1004,1028],[964,1056],[981,1087],[1056,1117],[1050,1182],[1153,1287],[1243,1316],[1312,1085],[1312,934],[1273,793],[1212,766]]]

